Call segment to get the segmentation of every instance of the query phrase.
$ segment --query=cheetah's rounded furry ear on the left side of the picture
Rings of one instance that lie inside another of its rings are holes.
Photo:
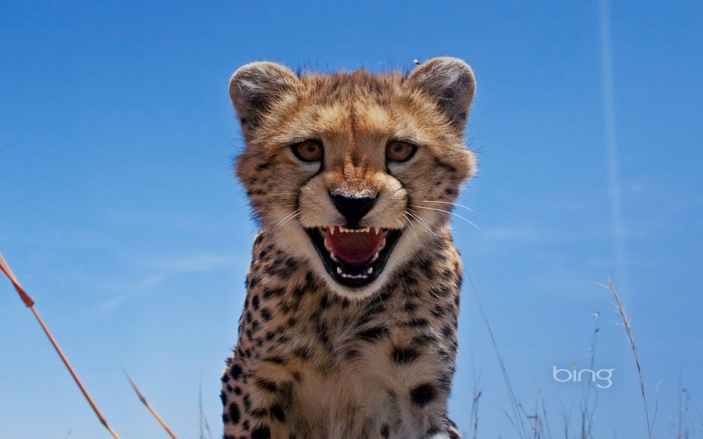
[[[259,61],[239,67],[229,80],[229,96],[247,136],[271,103],[298,81],[288,67]]]

